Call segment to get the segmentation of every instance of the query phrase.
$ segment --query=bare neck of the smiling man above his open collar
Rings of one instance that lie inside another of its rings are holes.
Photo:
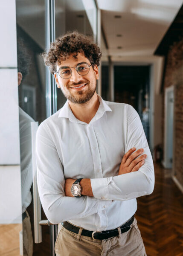
[[[93,94],[92,98],[84,104],[75,104],[69,101],[70,108],[76,116],[76,118],[87,124],[91,121],[93,116],[95,116],[96,111],[99,108],[100,102],[96,92]]]

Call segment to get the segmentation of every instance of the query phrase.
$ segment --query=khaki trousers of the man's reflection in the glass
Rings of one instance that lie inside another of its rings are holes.
[[[32,256],[33,254],[33,238],[29,213],[26,211],[27,217],[23,220],[23,256]]]

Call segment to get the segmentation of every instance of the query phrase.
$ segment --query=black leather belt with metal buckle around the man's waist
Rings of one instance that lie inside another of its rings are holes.
[[[135,215],[133,215],[129,219],[129,221],[127,221],[125,224],[123,224],[120,227],[122,233],[127,232],[131,228],[130,225],[133,223],[134,218],[135,218]],[[78,234],[79,227],[76,227],[76,226],[70,224],[67,221],[61,222],[61,224],[67,230],[70,230],[70,231]],[[114,229],[114,230],[106,230],[106,231],[90,231],[90,230],[84,230],[83,229],[82,232],[81,232],[81,236],[89,236],[89,237],[92,237],[93,239],[99,239],[99,240],[108,239],[110,237],[118,236],[118,235],[119,235],[119,231],[118,231],[117,228]]]

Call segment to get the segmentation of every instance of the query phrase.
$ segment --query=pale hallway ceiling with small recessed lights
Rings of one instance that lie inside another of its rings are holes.
[[[177,15],[183,0],[97,0],[108,49],[103,60],[152,56]],[[117,15],[117,17],[115,17]],[[121,36],[117,36],[121,35]]]

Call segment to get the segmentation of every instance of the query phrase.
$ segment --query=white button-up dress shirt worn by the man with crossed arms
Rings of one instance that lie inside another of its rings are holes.
[[[153,161],[137,111],[98,98],[89,124],[73,115],[67,101],[38,128],[38,191],[53,224],[70,221],[87,230],[114,229],[136,212],[136,198],[154,189]],[[132,147],[144,148],[145,164],[137,172],[118,175],[122,157]],[[66,197],[67,178],[90,178],[94,197]]]

